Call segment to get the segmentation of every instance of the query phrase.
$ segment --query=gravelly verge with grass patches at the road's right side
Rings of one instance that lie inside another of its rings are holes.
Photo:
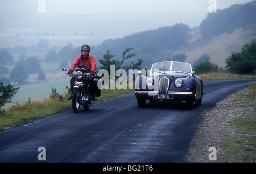
[[[192,140],[188,162],[256,162],[256,84],[231,94],[204,114]],[[210,161],[209,147],[217,160]]]

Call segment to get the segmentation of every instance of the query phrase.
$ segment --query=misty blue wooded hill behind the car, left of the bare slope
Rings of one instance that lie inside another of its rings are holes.
[[[106,53],[106,49],[109,49],[113,51],[114,59],[121,59],[122,52],[126,48],[134,48],[133,51],[137,53],[137,57],[144,60],[144,65],[151,65],[159,53],[176,50],[185,44],[190,30],[186,24],[175,24],[171,27],[166,26],[157,30],[139,32],[122,39],[108,39],[92,50],[96,57],[102,57]],[[137,57],[129,61],[137,62]]]

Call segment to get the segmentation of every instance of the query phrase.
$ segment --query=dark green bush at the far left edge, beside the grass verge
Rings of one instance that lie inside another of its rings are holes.
[[[9,84],[4,86],[3,82],[0,82],[0,110],[2,111],[1,107],[5,106],[6,103],[10,103],[11,99],[13,98],[14,94],[18,92],[20,87],[14,88],[13,85]]]

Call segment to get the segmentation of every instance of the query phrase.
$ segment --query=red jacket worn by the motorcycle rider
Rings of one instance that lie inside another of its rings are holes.
[[[81,57],[82,55],[77,56],[69,69],[75,71],[76,67],[82,68],[82,63],[84,60],[81,60]],[[94,72],[96,70],[96,60],[92,55],[89,55],[88,59],[86,59],[84,68],[86,71]]]

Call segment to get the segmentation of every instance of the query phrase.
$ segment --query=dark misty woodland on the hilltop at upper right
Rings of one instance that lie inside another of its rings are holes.
[[[200,24],[201,35],[210,39],[224,32],[232,33],[235,28],[255,24],[256,1],[244,5],[233,5],[228,9],[217,10],[217,13],[208,13]]]

